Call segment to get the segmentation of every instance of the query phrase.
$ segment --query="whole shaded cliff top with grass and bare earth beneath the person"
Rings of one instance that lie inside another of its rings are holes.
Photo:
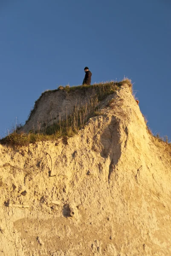
[[[131,81],[124,79],[120,82],[75,87],[60,86],[56,90],[45,91],[35,101],[25,125],[19,125],[1,140],[1,144],[28,145],[41,140],[72,136],[84,127],[90,117],[99,115],[105,107],[103,102],[107,96],[115,93],[124,84],[132,90]]]

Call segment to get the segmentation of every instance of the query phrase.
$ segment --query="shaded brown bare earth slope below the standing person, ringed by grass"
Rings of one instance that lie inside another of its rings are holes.
[[[81,107],[91,102],[96,94],[93,88],[84,88],[68,93],[65,90],[47,91],[35,103],[34,111],[23,126],[22,130],[38,130],[46,125],[52,125],[55,121],[65,119],[66,113],[70,115],[73,108]]]

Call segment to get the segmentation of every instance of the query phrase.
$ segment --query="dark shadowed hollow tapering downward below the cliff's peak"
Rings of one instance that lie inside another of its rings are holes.
[[[102,151],[101,157],[110,158],[108,182],[110,183],[111,174],[115,171],[115,166],[121,157],[120,123],[115,116],[112,117],[110,124],[101,134]]]

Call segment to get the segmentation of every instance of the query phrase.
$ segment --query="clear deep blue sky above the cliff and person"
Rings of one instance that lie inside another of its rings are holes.
[[[1,0],[0,136],[88,66],[92,83],[131,79],[152,132],[171,140],[170,13],[170,0]]]

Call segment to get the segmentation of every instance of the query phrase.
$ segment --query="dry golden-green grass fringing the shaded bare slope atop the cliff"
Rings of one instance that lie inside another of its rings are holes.
[[[62,88],[59,87],[57,90],[62,89],[67,91],[67,93],[73,92],[75,90],[86,90],[87,88],[93,88],[93,90],[95,90],[95,94],[85,105],[75,105],[70,115],[66,113],[66,119],[59,117],[59,120],[54,122],[51,126],[45,126],[42,128],[40,127],[37,131],[33,129],[28,134],[24,132],[19,133],[17,129],[15,129],[15,131],[13,131],[11,134],[1,139],[0,143],[23,146],[29,145],[29,143],[36,143],[38,141],[56,140],[60,137],[66,136],[71,137],[76,134],[79,129],[84,127],[85,123],[88,121],[88,119],[90,119],[90,117],[100,114],[98,111],[99,102],[107,95],[114,93],[123,84],[128,84],[130,87],[132,87],[131,81],[129,79],[124,79],[120,82],[111,81],[93,85],[81,85],[75,87],[66,86]],[[41,94],[40,98],[35,102],[35,108],[31,111],[26,122],[30,120],[31,115],[35,112],[36,106],[42,96],[46,93],[53,93],[57,90],[50,90]]]

